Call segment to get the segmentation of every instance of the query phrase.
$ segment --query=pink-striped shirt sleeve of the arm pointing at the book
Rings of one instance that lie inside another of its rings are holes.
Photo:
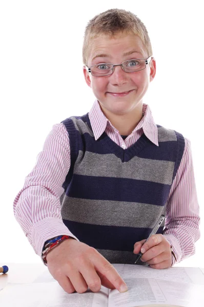
[[[13,203],[15,218],[40,257],[46,240],[52,237],[77,239],[63,223],[59,200],[69,169],[69,135],[63,123],[55,124]]]

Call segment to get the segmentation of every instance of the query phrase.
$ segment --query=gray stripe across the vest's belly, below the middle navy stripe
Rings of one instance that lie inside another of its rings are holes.
[[[133,202],[82,200],[68,197],[65,193],[60,197],[60,202],[63,218],[93,225],[153,228],[158,216],[166,211],[166,205],[161,207]]]

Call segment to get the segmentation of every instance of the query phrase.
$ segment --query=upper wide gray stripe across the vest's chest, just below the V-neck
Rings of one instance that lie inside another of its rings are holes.
[[[129,178],[172,184],[174,162],[133,157],[122,162],[113,153],[98,153],[79,150],[74,173],[84,176]]]

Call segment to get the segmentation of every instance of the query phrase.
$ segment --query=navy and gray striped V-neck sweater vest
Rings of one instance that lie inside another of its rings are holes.
[[[123,149],[105,132],[95,140],[88,113],[62,123],[71,150],[60,196],[64,224],[109,262],[133,264],[134,243],[147,238],[159,216],[166,214],[185,139],[157,125],[159,146],[142,134]],[[164,225],[157,233],[164,232]]]

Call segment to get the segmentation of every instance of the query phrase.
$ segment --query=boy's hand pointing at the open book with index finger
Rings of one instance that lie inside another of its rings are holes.
[[[74,238],[64,240],[47,254],[48,270],[65,292],[98,292],[101,284],[109,289],[126,286],[116,269],[96,249]]]

